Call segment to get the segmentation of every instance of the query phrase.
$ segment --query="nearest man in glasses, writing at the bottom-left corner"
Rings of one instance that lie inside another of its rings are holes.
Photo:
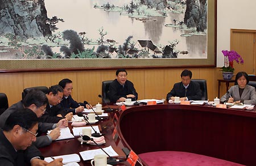
[[[32,156],[26,153],[25,150],[36,140],[37,130],[38,117],[32,110],[26,108],[11,113],[0,130],[1,165],[63,165],[63,159],[47,163],[40,151],[34,151]]]

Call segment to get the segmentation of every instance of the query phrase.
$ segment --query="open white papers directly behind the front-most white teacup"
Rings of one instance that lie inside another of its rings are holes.
[[[103,148],[103,150],[106,151],[107,154],[109,154],[110,156],[118,156],[117,152],[115,152],[112,148],[112,146],[109,147],[105,147]],[[82,156],[83,160],[91,160],[94,158],[95,155],[106,155],[104,153],[104,151],[102,151],[100,148],[96,149],[96,150],[88,150],[88,151],[82,151],[79,152],[80,155]]]

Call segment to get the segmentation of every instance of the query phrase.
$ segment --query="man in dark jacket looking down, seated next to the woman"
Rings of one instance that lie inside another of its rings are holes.
[[[175,83],[171,92],[167,93],[167,100],[174,101],[174,97],[180,97],[180,101],[201,100],[202,92],[199,83],[193,82],[192,72],[183,70],[180,74],[181,82]]]

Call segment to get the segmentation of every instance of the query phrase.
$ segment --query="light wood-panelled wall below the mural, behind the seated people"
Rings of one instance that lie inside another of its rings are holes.
[[[134,83],[139,93],[139,99],[166,99],[174,83],[180,82],[180,73],[184,69],[157,69],[157,70],[127,70],[128,79]],[[218,95],[218,82],[221,72],[218,68],[191,69],[192,78],[207,79],[208,99],[213,100]],[[77,72],[49,72],[1,74],[0,92],[9,97],[9,104],[21,100],[21,92],[26,87],[52,86],[63,78],[73,81],[72,96],[75,100],[89,101],[91,104],[101,103],[101,84],[103,80],[115,79],[115,70],[77,71]],[[225,93],[225,84],[221,84],[220,95]]]

